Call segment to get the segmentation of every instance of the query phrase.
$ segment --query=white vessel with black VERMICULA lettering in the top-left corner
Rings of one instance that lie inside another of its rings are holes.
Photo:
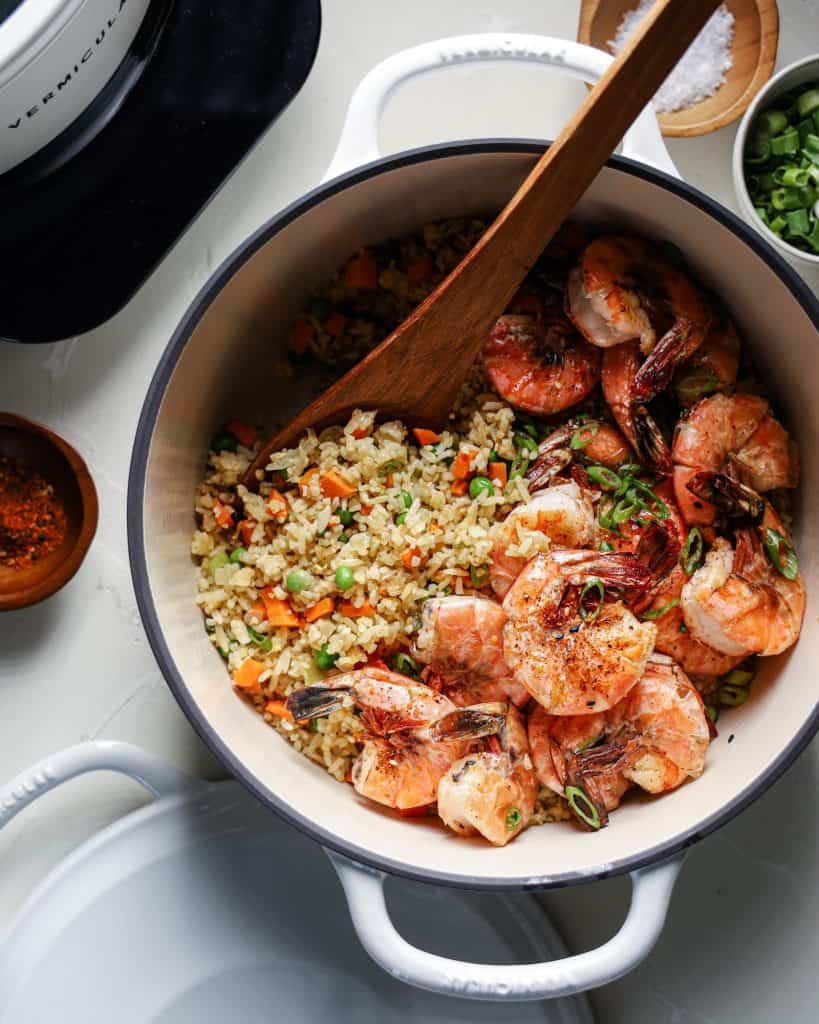
[[[0,14],[0,174],[39,153],[88,112],[107,88],[90,136],[111,116],[138,74],[143,47],[131,61],[148,9],[150,20],[169,0],[21,0]],[[156,28],[156,26],[146,26]],[[111,83],[119,75],[117,88]]]

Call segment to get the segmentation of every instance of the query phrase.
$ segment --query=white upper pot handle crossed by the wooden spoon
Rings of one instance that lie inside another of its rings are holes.
[[[378,128],[387,100],[395,89],[415,75],[463,63],[514,60],[542,63],[596,82],[613,57],[602,50],[567,39],[520,33],[484,33],[437,39],[401,50],[382,60],[364,76],[352,94],[336,153],[324,180],[378,160]],[[679,178],[672,163],[657,119],[649,104],[622,140],[622,155]]]

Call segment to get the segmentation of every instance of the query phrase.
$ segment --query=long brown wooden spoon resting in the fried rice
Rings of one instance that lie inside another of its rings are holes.
[[[431,428],[445,423],[492,325],[719,3],[655,3],[473,249],[400,327],[262,446],[245,474],[248,486],[272,452],[308,427],[343,423],[355,409]]]

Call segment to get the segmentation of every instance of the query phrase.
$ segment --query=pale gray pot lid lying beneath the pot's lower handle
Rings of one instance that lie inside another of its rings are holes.
[[[481,963],[566,949],[533,896],[391,879],[411,942]],[[0,957],[2,1024],[593,1024],[584,996],[477,1004],[395,981],[364,953],[321,849],[235,782],[171,797],[75,851]]]

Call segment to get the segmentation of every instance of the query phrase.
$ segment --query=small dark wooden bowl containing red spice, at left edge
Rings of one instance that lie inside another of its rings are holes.
[[[50,597],[74,575],[96,531],[96,488],[80,455],[46,427],[0,413],[0,456],[16,459],[44,477],[66,510],[66,537],[28,569],[0,565],[0,611]]]

